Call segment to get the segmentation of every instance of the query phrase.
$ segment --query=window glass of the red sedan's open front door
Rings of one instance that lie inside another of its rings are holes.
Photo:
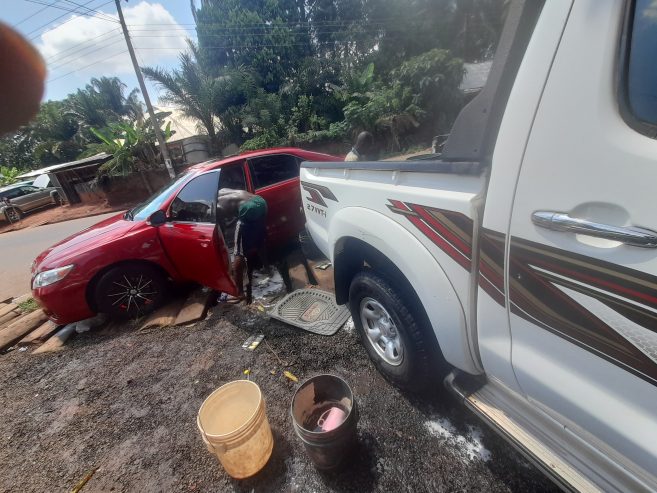
[[[171,220],[214,223],[218,176],[206,173],[185,185],[171,203]]]

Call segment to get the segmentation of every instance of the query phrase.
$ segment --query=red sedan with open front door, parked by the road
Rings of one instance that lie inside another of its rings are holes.
[[[237,294],[217,226],[218,189],[262,196],[268,244],[284,244],[304,227],[299,163],[306,160],[339,158],[281,148],[193,166],[143,204],[41,253],[32,266],[32,293],[58,324],[96,313],[147,313],[163,301],[171,280]]]

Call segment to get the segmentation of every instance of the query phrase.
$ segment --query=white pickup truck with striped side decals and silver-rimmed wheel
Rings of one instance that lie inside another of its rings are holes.
[[[657,1],[513,2],[441,155],[306,162],[393,383],[444,379],[575,490],[657,490]]]

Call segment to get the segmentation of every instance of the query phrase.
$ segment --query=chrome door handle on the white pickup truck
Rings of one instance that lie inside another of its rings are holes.
[[[532,222],[553,231],[577,233],[606,240],[619,241],[641,248],[657,248],[657,232],[635,226],[612,226],[587,219],[570,217],[564,212],[536,211]]]

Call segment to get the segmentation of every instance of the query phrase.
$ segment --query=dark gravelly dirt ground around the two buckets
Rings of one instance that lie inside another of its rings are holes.
[[[256,333],[268,345],[243,350]],[[245,369],[266,398],[275,446],[258,475],[236,481],[203,445],[196,413]],[[350,383],[360,445],[344,471],[320,474],[305,455],[289,415],[299,384],[285,369]],[[191,327],[87,332],[60,353],[12,351],[0,356],[0,388],[3,492],[70,491],[95,468],[84,492],[554,490],[440,386],[423,398],[391,387],[352,326],[317,336],[253,306],[220,305]]]

